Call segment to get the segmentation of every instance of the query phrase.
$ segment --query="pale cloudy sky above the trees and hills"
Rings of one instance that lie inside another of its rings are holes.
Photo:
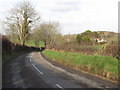
[[[0,20],[21,0],[0,0]],[[118,32],[120,0],[29,0],[44,21],[58,21],[62,34],[91,31]],[[2,28],[0,26],[0,30]]]

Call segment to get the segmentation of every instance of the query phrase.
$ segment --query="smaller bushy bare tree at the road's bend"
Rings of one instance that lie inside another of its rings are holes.
[[[60,34],[60,26],[57,22],[44,22],[34,30],[34,41],[43,41],[45,46],[55,44],[56,36]]]

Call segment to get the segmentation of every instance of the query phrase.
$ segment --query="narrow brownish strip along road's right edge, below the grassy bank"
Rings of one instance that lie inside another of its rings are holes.
[[[81,71],[78,71],[78,70],[75,70],[73,68],[70,68],[70,67],[67,67],[67,66],[64,66],[64,65],[61,65],[57,62],[54,62],[53,60],[50,60],[48,57],[46,57],[42,52],[40,52],[41,56],[47,60],[48,62],[50,62],[52,65],[54,66],[57,66],[59,68],[62,68],[70,73],[74,73],[74,74],[78,74],[78,75],[81,75],[81,76],[84,76],[86,77],[87,79],[90,79],[90,80],[94,80],[95,82],[99,83],[99,85],[103,88],[111,88],[111,89],[118,89],[118,84],[115,84],[113,82],[110,82],[108,80],[103,80],[102,78],[100,77],[96,77],[96,76],[93,76],[93,75],[90,75],[90,74],[87,74],[87,73],[84,73],[84,72],[81,72]],[[100,84],[101,83],[101,84]]]

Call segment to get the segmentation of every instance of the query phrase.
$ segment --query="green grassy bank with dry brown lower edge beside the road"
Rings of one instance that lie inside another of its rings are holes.
[[[88,72],[104,78],[118,80],[118,60],[108,56],[88,56],[80,53],[45,50],[49,59],[76,70]]]

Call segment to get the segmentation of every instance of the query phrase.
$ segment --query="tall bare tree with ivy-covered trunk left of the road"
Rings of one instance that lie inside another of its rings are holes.
[[[21,2],[17,7],[10,10],[6,17],[6,33],[15,35],[22,45],[30,34],[32,26],[40,20],[40,16],[30,2]]]

